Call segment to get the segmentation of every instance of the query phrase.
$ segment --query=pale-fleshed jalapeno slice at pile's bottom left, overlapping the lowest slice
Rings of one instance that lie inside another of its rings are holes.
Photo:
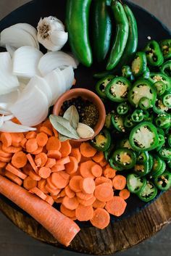
[[[127,176],[127,186],[130,193],[137,194],[146,186],[146,178],[130,173]]]

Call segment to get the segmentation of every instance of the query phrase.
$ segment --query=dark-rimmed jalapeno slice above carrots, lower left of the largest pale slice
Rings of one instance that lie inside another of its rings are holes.
[[[135,165],[136,154],[132,149],[120,148],[113,152],[112,160],[116,165],[128,170]]]

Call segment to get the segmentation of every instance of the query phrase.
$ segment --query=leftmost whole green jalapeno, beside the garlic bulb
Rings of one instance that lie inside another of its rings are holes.
[[[92,64],[88,21],[91,0],[67,0],[66,25],[73,54],[86,67]]]

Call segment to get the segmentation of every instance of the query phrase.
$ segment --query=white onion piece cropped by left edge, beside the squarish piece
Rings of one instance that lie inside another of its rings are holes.
[[[8,94],[19,86],[17,76],[12,75],[12,59],[8,52],[0,53],[0,85],[0,95]]]

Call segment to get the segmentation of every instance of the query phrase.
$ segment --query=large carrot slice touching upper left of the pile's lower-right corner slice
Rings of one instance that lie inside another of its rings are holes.
[[[102,183],[96,186],[96,189],[94,191],[96,199],[98,199],[101,202],[107,202],[111,200],[114,195],[112,186],[105,186],[104,184],[105,183]]]

